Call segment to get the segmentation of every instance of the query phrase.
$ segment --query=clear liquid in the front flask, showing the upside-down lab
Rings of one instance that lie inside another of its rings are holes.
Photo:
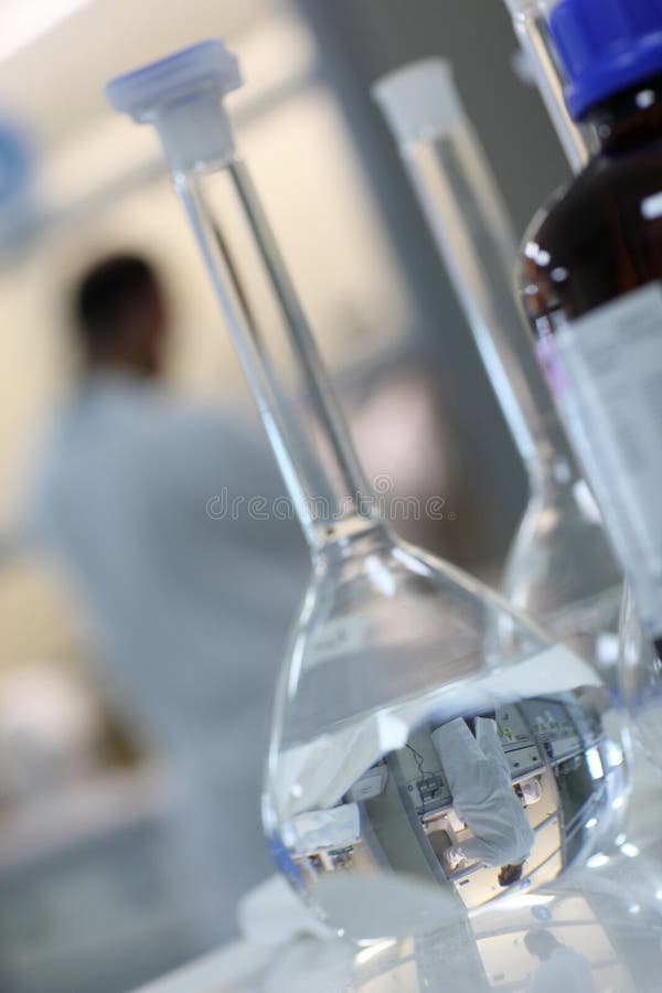
[[[572,683],[572,671],[566,675]],[[533,690],[534,671],[523,666],[523,683],[527,677]],[[606,705],[594,683],[447,720],[449,702],[440,695],[425,717],[420,707],[416,718],[405,708],[383,718],[381,732],[378,720],[363,722],[293,747],[278,783],[292,882],[345,930],[343,888],[348,900],[352,894],[352,918],[362,912],[351,875],[363,876],[369,893],[381,876],[402,899],[419,900],[421,917],[430,917],[418,921],[423,930],[509,887],[551,883],[609,847],[622,828],[627,776],[620,744],[604,724]],[[387,720],[402,744],[381,755]],[[453,907],[447,894],[435,914],[431,891],[439,887],[459,903]],[[397,908],[382,908],[373,909],[370,927],[385,937],[410,923]]]

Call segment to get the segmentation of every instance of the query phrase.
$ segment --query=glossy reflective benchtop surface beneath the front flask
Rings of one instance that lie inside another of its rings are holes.
[[[658,864],[628,850],[613,865],[596,856],[569,883],[513,893],[430,935],[371,942],[353,953],[348,942],[297,942],[263,986],[265,993],[324,983],[346,993],[652,993],[662,963],[659,899],[650,899],[650,886],[647,896],[631,885],[633,869],[659,880]]]

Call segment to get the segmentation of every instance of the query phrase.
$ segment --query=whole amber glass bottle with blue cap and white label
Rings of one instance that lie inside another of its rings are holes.
[[[534,220],[521,298],[662,647],[662,0],[560,0],[551,31],[600,150]]]

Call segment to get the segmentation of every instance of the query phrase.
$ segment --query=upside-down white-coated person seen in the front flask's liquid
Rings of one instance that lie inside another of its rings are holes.
[[[473,837],[446,854],[451,869],[462,862],[500,866],[499,883],[510,886],[522,876],[535,834],[512,786],[496,722],[476,718],[476,737],[461,717],[433,732],[452,796],[452,805]]]

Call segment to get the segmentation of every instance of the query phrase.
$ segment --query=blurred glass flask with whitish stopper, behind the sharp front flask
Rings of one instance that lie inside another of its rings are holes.
[[[516,239],[450,65],[412,63],[381,79],[373,94],[526,469],[530,501],[503,592],[616,686],[621,573],[523,324],[513,287]]]

